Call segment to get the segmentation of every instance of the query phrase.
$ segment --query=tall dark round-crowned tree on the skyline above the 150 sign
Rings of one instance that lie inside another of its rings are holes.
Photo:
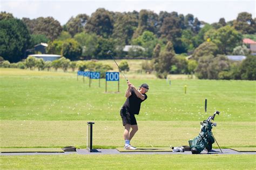
[[[85,31],[88,33],[96,33],[104,38],[110,37],[113,31],[111,13],[104,8],[97,9],[87,20]]]

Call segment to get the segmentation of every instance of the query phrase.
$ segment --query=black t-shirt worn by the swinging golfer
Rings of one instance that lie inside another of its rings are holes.
[[[147,99],[147,95],[146,94],[143,94],[143,96],[145,97],[144,100],[138,98],[136,96],[134,90],[131,89],[131,96],[126,99],[123,107],[125,107],[126,110],[129,111],[129,113],[139,114],[140,104]]]

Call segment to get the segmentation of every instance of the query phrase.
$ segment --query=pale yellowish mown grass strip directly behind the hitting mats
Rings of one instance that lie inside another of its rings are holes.
[[[0,121],[1,147],[86,147],[87,121]],[[137,147],[188,145],[200,132],[199,121],[138,121]],[[217,121],[212,130],[221,148],[256,146],[254,122]],[[245,140],[246,139],[246,140]],[[122,121],[95,121],[93,146],[123,146]],[[218,148],[214,143],[213,147]]]

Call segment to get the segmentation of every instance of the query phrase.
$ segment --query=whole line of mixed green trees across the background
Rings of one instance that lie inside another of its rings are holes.
[[[232,70],[233,63],[218,66],[215,74],[207,68],[207,74],[200,71],[205,63],[229,62],[225,58],[228,54],[248,56],[250,51],[242,46],[242,38],[256,39],[255,22],[247,12],[239,13],[234,21],[220,18],[219,22],[208,24],[192,14],[166,11],[157,14],[150,10],[121,13],[99,8],[91,16],[79,14],[60,25],[52,17],[17,19],[11,13],[1,12],[0,56],[9,62],[19,62],[26,57],[26,49],[43,42],[48,43],[47,53],[70,60],[108,59],[106,51],[112,50],[116,58],[151,59],[144,67],[157,71],[158,77],[196,72],[199,78],[219,79],[226,77],[226,72],[219,73]],[[134,47],[124,52],[125,45]],[[192,60],[184,60],[186,55],[192,55]]]

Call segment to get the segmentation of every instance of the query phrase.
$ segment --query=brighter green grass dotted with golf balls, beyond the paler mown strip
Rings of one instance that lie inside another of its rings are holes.
[[[126,83],[92,80],[89,87],[75,73],[0,69],[1,120],[117,120],[125,97]],[[140,120],[202,121],[215,110],[218,121],[255,121],[256,81],[131,79],[150,85],[142,104]],[[187,93],[184,94],[184,86]],[[207,98],[207,114],[204,101]]]

